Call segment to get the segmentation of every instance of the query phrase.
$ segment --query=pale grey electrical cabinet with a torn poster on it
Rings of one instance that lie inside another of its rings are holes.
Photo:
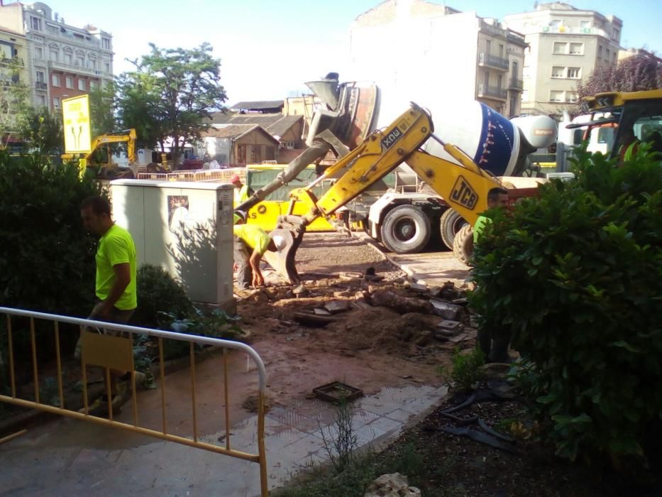
[[[161,266],[191,300],[234,312],[232,185],[115,180],[110,195],[115,222],[136,242],[138,266]]]

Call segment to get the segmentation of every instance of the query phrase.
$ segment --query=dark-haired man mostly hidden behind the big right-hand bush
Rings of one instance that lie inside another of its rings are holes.
[[[508,190],[502,187],[494,187],[487,192],[487,208],[502,209],[508,204]],[[485,228],[492,224],[492,219],[480,214],[473,226],[473,243],[475,244]],[[487,362],[507,362],[508,345],[510,343],[510,331],[507,327],[496,331],[493,329],[478,328],[476,346],[485,354]],[[491,355],[490,355],[491,353]]]

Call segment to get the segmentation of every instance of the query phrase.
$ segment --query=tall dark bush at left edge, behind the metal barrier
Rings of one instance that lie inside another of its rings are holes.
[[[100,192],[92,179],[79,179],[75,165],[54,167],[44,155],[0,151],[0,305],[87,316],[94,302],[96,245],[83,229],[79,207]],[[19,357],[29,349],[24,321],[13,320]],[[37,333],[40,353],[52,358],[53,325],[37,322]],[[75,341],[70,333],[62,339],[65,349]],[[0,353],[5,351],[0,339]]]

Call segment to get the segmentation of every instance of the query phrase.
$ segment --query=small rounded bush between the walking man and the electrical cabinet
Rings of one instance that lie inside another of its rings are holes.
[[[143,264],[136,280],[138,308],[131,320],[136,326],[158,327],[159,312],[168,312],[177,320],[194,311],[184,287],[160,266]]]

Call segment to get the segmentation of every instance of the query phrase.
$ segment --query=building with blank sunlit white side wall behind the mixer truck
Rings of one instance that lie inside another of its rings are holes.
[[[524,36],[494,19],[424,0],[387,0],[358,16],[350,31],[354,80],[382,90],[380,123],[410,101],[435,112],[478,100],[519,114]]]

